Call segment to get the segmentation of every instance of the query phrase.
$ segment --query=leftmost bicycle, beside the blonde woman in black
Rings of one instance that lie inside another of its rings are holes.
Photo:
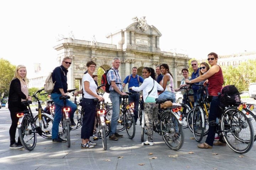
[[[21,104],[24,104],[28,107],[23,112],[16,113],[18,120],[18,134],[20,136],[20,141],[25,149],[32,151],[36,147],[37,134],[40,136],[51,139],[52,138],[52,124],[53,117],[42,113],[42,106],[37,98],[37,93],[40,93],[44,89],[38,90],[32,97],[35,97],[38,101],[38,114],[34,117],[30,108],[32,101],[24,101]],[[38,120],[38,121],[36,121]],[[37,125],[38,124],[38,125]],[[42,130],[43,129],[43,130]]]

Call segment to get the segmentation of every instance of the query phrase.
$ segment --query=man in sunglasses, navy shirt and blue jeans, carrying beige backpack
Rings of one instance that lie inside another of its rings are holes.
[[[53,143],[66,142],[66,140],[63,140],[62,138],[59,137],[59,123],[62,118],[61,109],[64,106],[64,101],[60,100],[59,97],[66,96],[66,92],[68,92],[67,73],[71,63],[72,63],[71,57],[64,57],[62,60],[62,65],[59,67],[56,67],[52,73],[52,80],[53,82],[55,82],[54,89],[51,94],[52,100],[55,104],[55,115],[54,115],[53,127],[52,127]],[[71,126],[75,126],[76,124],[74,122],[74,113],[76,111],[77,106],[68,99],[66,100],[66,106],[69,106],[71,108],[70,122],[71,122]]]

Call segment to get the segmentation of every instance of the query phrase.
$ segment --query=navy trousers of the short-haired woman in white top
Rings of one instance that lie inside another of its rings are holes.
[[[96,105],[97,102],[94,102],[94,99],[83,98],[84,118],[82,119],[81,139],[90,139],[93,135]]]

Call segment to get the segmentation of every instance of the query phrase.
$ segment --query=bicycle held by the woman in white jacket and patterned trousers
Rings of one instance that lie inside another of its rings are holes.
[[[182,115],[180,114],[181,107],[161,108],[161,103],[166,101],[166,99],[156,99],[156,104],[158,104],[158,123],[156,125],[153,123],[153,129],[163,137],[170,149],[177,151],[184,143]],[[142,133],[142,138],[144,140],[144,133]]]

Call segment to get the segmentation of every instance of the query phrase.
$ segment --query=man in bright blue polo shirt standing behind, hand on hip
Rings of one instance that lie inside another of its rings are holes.
[[[130,87],[139,87],[139,83],[143,83],[143,78],[137,75],[137,67],[132,68],[132,74],[128,75],[124,81],[123,81],[123,87],[128,84],[128,89]],[[137,91],[133,91],[129,89],[129,92],[132,93],[132,95],[129,95],[129,102],[134,102],[134,119],[135,124],[137,124],[138,120],[138,111],[139,111],[139,99],[140,99],[140,93]]]

